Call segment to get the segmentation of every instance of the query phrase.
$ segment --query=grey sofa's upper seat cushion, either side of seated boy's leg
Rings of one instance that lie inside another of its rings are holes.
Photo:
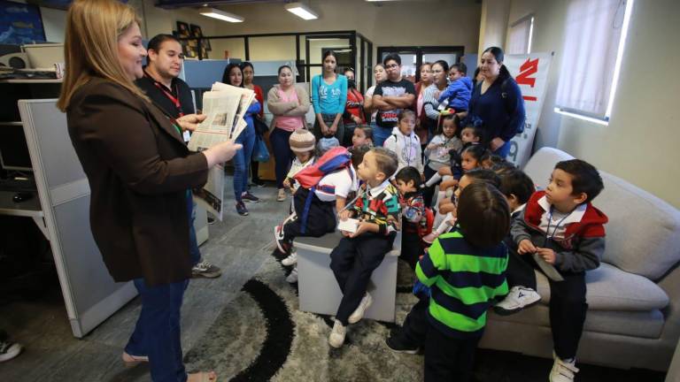
[[[550,302],[550,286],[543,273],[537,272],[537,292],[541,302]],[[589,310],[652,310],[668,306],[668,294],[649,279],[602,263],[585,274],[585,294]]]

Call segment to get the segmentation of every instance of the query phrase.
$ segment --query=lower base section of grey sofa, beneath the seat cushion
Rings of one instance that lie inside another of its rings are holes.
[[[487,325],[493,325],[494,321],[506,321],[550,327],[548,311],[548,307],[543,304],[510,316],[498,316],[490,310],[487,313]],[[658,339],[661,337],[664,323],[663,314],[657,309],[646,311],[588,310],[583,331]]]

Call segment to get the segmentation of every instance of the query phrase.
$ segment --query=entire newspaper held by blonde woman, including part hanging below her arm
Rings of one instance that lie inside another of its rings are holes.
[[[248,126],[243,117],[254,99],[255,92],[251,89],[215,82],[211,91],[203,94],[203,113],[206,118],[191,134],[189,149],[203,151],[225,141],[236,141],[238,135]],[[194,190],[194,198],[222,220],[223,166],[218,164],[210,169],[205,186]]]

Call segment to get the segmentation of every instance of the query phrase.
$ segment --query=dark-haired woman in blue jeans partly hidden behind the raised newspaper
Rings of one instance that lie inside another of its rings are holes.
[[[243,71],[238,64],[229,64],[224,69],[222,82],[238,88],[243,88]],[[241,216],[248,216],[248,209],[244,201],[259,202],[259,197],[248,191],[248,172],[251,164],[252,149],[255,147],[255,125],[252,120],[262,106],[257,98],[253,98],[243,118],[248,126],[236,138],[236,143],[241,143],[243,149],[234,156],[234,197],[236,198],[236,212]]]

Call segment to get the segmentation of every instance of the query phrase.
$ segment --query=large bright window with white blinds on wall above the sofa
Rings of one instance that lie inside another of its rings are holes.
[[[609,119],[632,4],[569,0],[555,111]]]

